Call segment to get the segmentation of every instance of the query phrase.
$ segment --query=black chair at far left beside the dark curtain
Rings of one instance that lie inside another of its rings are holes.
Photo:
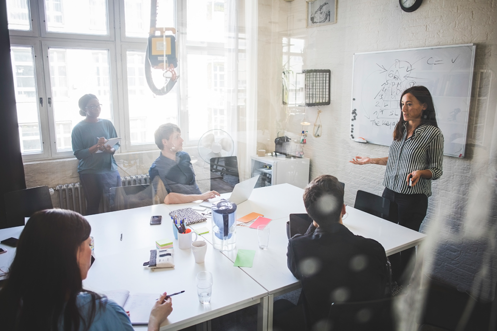
[[[3,197],[9,228],[24,225],[24,217],[31,217],[36,211],[53,208],[48,186],[7,192]]]

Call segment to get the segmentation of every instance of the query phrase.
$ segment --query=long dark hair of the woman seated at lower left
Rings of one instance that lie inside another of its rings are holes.
[[[38,211],[27,222],[17,243],[8,278],[0,290],[0,325],[4,330],[65,331],[91,325],[96,301],[83,319],[76,297],[82,291],[78,251],[91,231],[86,219],[64,209]]]

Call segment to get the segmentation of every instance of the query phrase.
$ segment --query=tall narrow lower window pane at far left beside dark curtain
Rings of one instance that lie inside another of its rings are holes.
[[[41,133],[36,77],[31,47],[10,48],[14,75],[15,102],[22,153],[40,153]]]

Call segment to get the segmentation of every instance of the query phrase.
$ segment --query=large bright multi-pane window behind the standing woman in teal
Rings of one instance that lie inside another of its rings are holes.
[[[144,68],[150,0],[7,0],[24,160],[73,156],[71,133],[83,120],[78,101],[88,93],[123,138],[118,153],[155,150],[154,132],[168,122],[180,126],[185,145],[210,129],[236,133],[245,78],[230,74],[240,50],[227,38],[236,22],[229,3],[158,0],[157,26],[188,31],[176,34],[180,78],[159,96]],[[152,69],[151,76],[162,87],[171,73]]]

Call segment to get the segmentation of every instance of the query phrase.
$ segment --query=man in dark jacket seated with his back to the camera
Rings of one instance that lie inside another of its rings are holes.
[[[313,223],[288,242],[288,268],[301,281],[308,323],[326,319],[331,303],[382,299],[388,278],[387,256],[373,239],[356,236],[342,223],[343,187],[322,175],[304,191]]]

